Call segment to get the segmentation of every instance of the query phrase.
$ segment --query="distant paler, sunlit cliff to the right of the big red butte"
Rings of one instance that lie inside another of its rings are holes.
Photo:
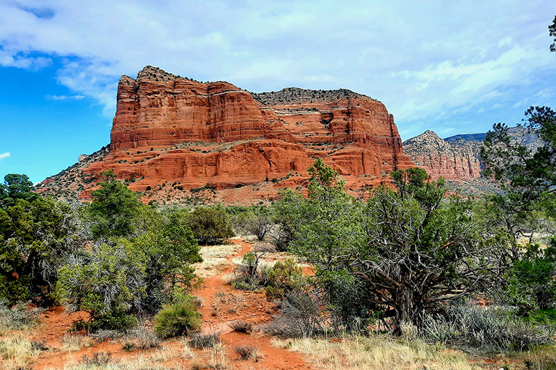
[[[403,145],[404,153],[433,178],[441,176],[447,180],[460,181],[481,176],[482,141],[459,139],[448,142],[427,130],[404,141]]]

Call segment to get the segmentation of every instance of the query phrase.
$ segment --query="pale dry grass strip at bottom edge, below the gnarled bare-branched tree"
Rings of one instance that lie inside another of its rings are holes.
[[[467,361],[465,353],[425,344],[420,340],[396,341],[388,336],[347,336],[329,339],[272,338],[277,348],[300,351],[323,369],[431,369],[472,370],[479,367]]]

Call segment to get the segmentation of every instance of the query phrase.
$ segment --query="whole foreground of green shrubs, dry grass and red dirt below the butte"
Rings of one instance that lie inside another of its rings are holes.
[[[524,122],[541,146],[494,125],[481,156],[498,191],[473,197],[414,167],[359,198],[321,158],[270,206],[156,208],[111,171],[73,204],[9,174],[0,364],[272,368],[296,351],[325,369],[555,369],[556,113]],[[60,307],[72,322],[51,348],[37,337]]]

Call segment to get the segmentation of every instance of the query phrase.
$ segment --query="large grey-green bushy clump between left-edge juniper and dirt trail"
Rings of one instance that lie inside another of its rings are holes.
[[[108,196],[114,203],[121,198],[121,203],[135,199],[114,179],[106,189],[118,190]],[[111,218],[101,208],[97,210],[97,219]],[[202,261],[199,246],[180,215],[170,212],[164,218],[142,204],[133,205],[133,210],[136,215],[127,230],[133,230],[136,237],[128,235],[128,239],[116,241],[115,235],[124,229],[95,235],[111,238],[72,255],[59,271],[60,301],[89,312],[91,330],[122,330],[135,323],[133,314],[158,311],[175,296],[188,292],[197,280],[190,264]]]

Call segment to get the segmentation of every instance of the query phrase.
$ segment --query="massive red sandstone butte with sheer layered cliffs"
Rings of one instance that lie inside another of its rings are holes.
[[[81,156],[38,190],[86,199],[112,169],[144,201],[253,203],[299,189],[315,158],[355,194],[413,166],[393,116],[376,99],[295,87],[255,94],[147,66],[120,79],[108,148]]]

